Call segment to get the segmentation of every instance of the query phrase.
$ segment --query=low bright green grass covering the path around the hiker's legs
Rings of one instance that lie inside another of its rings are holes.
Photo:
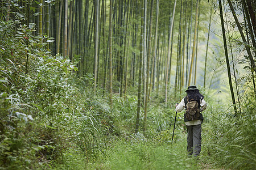
[[[61,162],[49,169],[222,169],[221,164],[215,164],[216,155],[209,148],[211,138],[204,128],[202,137],[199,160],[187,156],[187,135],[179,130],[173,145],[142,135],[112,137],[105,150],[108,156],[100,154],[97,159],[87,160],[79,149],[69,148]]]

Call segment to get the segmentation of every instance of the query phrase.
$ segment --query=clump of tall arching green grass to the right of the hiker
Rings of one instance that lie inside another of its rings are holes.
[[[216,164],[234,169],[256,167],[255,105],[249,98],[239,116],[222,113],[214,117],[206,146]]]

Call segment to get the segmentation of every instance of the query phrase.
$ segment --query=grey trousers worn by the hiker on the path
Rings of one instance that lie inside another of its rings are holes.
[[[189,155],[199,156],[201,151],[201,124],[187,126],[188,131],[188,147],[187,151]]]

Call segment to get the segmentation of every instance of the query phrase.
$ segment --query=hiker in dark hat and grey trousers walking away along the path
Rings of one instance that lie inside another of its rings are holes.
[[[201,124],[204,120],[203,112],[207,108],[207,103],[204,100],[204,96],[200,94],[196,86],[188,86],[187,96],[185,96],[180,103],[176,103],[175,111],[181,112],[183,109],[186,109],[184,114],[184,121],[187,127],[187,151],[188,155],[199,156],[201,151]],[[189,116],[191,113],[188,113],[190,106],[188,103],[196,101],[196,113],[194,116]]]

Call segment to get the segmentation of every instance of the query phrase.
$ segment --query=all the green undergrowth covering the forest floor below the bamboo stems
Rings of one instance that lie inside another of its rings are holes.
[[[142,104],[135,135],[137,87],[125,97],[114,94],[110,106],[103,90],[93,90],[93,75],[76,75],[79,57],[51,56],[46,43],[34,36],[34,27],[18,20],[0,24],[0,169],[200,168],[185,151],[183,113],[177,114],[171,145],[179,101],[166,104],[163,90],[152,92],[147,131]],[[208,108],[199,163],[254,169],[253,96],[243,99],[242,112],[234,116],[222,100],[200,89]]]

